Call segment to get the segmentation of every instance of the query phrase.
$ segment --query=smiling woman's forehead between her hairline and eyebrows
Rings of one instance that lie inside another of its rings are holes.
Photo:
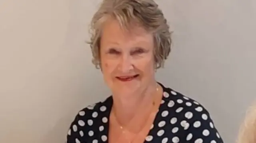
[[[101,43],[107,44],[116,42],[122,43],[153,43],[152,33],[146,31],[138,25],[130,25],[127,29],[120,26],[120,23],[109,18],[102,25]]]

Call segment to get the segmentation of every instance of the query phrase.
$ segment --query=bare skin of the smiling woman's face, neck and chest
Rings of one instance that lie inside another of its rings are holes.
[[[110,143],[143,143],[163,92],[154,78],[152,33],[136,26],[128,32],[109,19],[102,31],[100,56],[104,80],[114,100]]]

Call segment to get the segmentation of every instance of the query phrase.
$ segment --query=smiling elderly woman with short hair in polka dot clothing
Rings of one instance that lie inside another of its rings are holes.
[[[112,96],[79,111],[67,143],[223,143],[201,104],[156,82],[170,45],[153,0],[103,0],[90,47]]]

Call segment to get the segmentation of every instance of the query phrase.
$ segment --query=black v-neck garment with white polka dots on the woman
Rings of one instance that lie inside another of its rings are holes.
[[[160,85],[162,102],[144,143],[223,143],[201,104]],[[70,125],[66,143],[108,143],[112,103],[110,96],[81,110]]]

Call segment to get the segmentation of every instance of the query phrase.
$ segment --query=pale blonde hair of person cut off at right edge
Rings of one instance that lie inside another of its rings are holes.
[[[256,143],[256,104],[246,114],[239,130],[237,143]]]

